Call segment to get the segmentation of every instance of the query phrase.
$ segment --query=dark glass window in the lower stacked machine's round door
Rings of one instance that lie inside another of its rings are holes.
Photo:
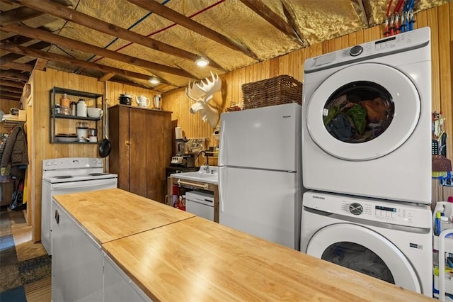
[[[331,245],[323,252],[321,259],[395,284],[394,277],[384,261],[372,250],[354,242],[337,242]]]

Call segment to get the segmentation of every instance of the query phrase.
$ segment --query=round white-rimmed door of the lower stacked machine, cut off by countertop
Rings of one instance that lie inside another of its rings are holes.
[[[363,250],[356,247],[363,247]],[[342,266],[369,276],[384,274],[382,267],[386,267],[393,282],[385,278],[379,279],[421,293],[417,274],[403,253],[382,235],[360,225],[338,223],[322,228],[311,237],[306,254],[339,265],[350,263],[356,268]],[[379,263],[379,259],[372,262],[370,257],[382,259],[382,263]],[[358,266],[361,268],[357,269]]]

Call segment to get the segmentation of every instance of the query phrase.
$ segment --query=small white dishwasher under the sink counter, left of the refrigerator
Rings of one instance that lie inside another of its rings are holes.
[[[201,191],[186,192],[185,211],[214,221],[214,194]]]

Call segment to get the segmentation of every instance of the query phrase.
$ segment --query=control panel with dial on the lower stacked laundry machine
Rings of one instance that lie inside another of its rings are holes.
[[[304,193],[303,206],[326,213],[382,223],[431,228],[431,208],[416,203],[309,191]]]

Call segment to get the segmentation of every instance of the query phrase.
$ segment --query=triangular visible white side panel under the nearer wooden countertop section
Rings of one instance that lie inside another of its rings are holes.
[[[104,254],[104,301],[152,301],[134,282]]]

